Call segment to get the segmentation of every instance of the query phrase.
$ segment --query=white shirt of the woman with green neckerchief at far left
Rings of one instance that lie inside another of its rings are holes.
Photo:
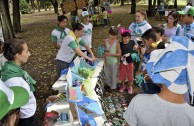
[[[32,91],[30,91],[29,84],[22,77],[13,77],[4,82],[6,86],[21,86],[25,88],[30,96],[27,104],[20,107],[20,118],[29,118],[36,112],[36,99]]]

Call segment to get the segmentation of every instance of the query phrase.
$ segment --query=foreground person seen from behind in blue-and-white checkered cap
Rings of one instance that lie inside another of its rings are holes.
[[[152,52],[146,66],[161,92],[135,96],[123,114],[125,126],[194,126],[194,108],[184,100],[188,89],[193,96],[194,43],[184,36],[171,39],[166,49]]]

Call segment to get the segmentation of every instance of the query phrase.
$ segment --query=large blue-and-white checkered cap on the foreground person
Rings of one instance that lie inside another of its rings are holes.
[[[185,36],[173,36],[165,49],[154,50],[146,65],[154,83],[164,84],[171,92],[191,96],[194,91],[194,43]]]

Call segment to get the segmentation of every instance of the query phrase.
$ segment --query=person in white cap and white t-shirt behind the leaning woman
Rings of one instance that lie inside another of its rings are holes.
[[[82,17],[83,17],[83,23],[81,23],[84,26],[84,33],[82,36],[82,39],[86,42],[86,44],[90,47],[90,49],[92,48],[92,24],[89,22],[90,18],[89,18],[89,13],[88,11],[83,11],[82,12]],[[82,52],[86,52],[86,48],[83,46],[80,46],[80,49],[82,50]],[[87,52],[87,54],[89,54]]]

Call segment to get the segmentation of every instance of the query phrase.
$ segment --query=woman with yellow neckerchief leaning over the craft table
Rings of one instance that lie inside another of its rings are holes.
[[[73,31],[70,31],[70,33],[65,37],[64,41],[62,42],[61,48],[59,49],[56,56],[56,67],[58,77],[60,77],[60,73],[62,70],[69,67],[69,64],[72,62],[75,54],[89,61],[94,61],[96,59],[89,45],[86,44],[86,42],[83,39],[81,39],[83,33],[84,26],[80,23],[75,23],[73,25]],[[80,50],[79,45],[85,47],[86,50],[92,56],[92,58],[84,54]]]

